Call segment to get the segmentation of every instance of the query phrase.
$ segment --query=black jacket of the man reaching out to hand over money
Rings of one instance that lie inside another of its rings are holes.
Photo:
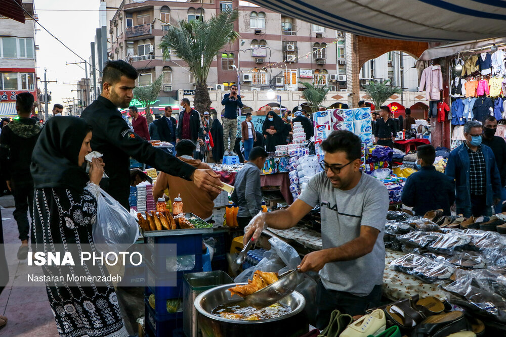
[[[104,155],[104,169],[109,176],[106,191],[126,209],[130,209],[130,157],[187,180],[195,171],[193,166],[137,136],[117,107],[102,96],[82,112],[81,118],[93,127],[92,150]]]

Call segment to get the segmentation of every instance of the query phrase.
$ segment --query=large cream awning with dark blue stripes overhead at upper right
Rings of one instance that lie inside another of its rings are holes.
[[[357,35],[453,42],[506,36],[506,2],[250,0],[288,17]]]

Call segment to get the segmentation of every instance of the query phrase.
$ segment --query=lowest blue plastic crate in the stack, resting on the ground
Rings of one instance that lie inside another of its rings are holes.
[[[168,319],[158,320],[149,304],[145,305],[146,334],[149,337],[179,337],[183,332],[183,312],[171,314]]]

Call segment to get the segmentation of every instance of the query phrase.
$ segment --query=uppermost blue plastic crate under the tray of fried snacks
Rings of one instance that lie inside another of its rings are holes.
[[[152,265],[157,274],[168,273],[167,256],[195,255],[196,266],[202,266],[202,233],[185,235],[148,236],[146,246],[146,264]],[[168,244],[176,245],[174,247]],[[169,258],[172,260],[173,258]]]

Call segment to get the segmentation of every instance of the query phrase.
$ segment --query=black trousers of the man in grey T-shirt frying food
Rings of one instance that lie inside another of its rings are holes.
[[[375,285],[367,296],[356,296],[350,293],[326,290],[321,280],[316,289],[316,327],[323,330],[330,321],[330,314],[338,309],[342,314],[365,315],[365,310],[379,306],[381,301],[381,284]]]

